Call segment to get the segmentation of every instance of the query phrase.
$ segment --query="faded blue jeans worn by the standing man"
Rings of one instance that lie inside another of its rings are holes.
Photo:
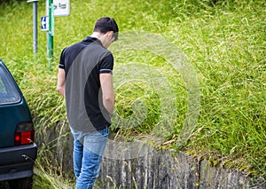
[[[74,175],[76,189],[92,189],[99,175],[100,163],[105,152],[109,130],[88,133],[72,130],[74,136]]]

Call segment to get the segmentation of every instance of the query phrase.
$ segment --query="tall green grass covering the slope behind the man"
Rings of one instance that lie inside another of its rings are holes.
[[[145,36],[130,40],[121,37],[111,47],[116,78],[112,130],[116,139],[143,138],[153,130],[164,128],[158,127],[160,121],[169,121],[166,124],[171,125],[171,130],[160,130],[167,145],[160,147],[202,156],[214,165],[238,168],[265,179],[265,5],[264,1],[232,0],[72,1],[70,16],[55,20],[54,62],[50,72],[45,32],[38,31],[38,53],[35,58],[32,54],[32,14],[29,13],[32,6],[12,1],[0,4],[0,58],[11,69],[27,98],[35,117],[36,138],[38,141],[44,138],[39,146],[45,156],[66,135],[60,132],[67,127],[65,105],[55,90],[60,51],[90,35],[95,20],[106,15],[117,20],[121,34],[127,31],[159,34],[184,52],[200,84],[197,124],[190,138],[182,146],[176,146],[188,111],[190,91],[184,73],[173,68],[164,55],[146,49],[141,43],[145,42]],[[40,1],[38,16],[44,14],[45,4]],[[134,45],[132,49],[123,50],[119,46],[123,40],[129,40]],[[135,65],[131,67],[135,72],[121,75],[130,65]],[[148,74],[141,70],[148,70]],[[134,80],[138,77],[140,80]],[[171,92],[166,91],[168,87]],[[174,111],[161,109],[166,101],[171,102],[166,107]],[[48,130],[56,128],[62,134],[49,140]],[[64,176],[60,173],[60,161],[44,164],[52,164],[58,168],[53,173]]]

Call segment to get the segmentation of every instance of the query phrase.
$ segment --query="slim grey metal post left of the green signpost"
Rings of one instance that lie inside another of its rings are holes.
[[[38,0],[27,0],[27,3],[33,3],[33,49],[34,54],[37,52],[38,48],[38,29],[37,29],[37,2]]]

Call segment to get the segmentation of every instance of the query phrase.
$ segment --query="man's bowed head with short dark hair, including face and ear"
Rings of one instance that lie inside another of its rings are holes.
[[[93,33],[98,33],[100,41],[107,48],[111,43],[118,39],[119,28],[114,19],[103,17],[97,20]]]

